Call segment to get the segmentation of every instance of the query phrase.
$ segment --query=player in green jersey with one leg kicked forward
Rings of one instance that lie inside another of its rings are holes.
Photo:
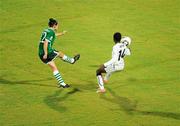
[[[48,66],[52,69],[53,75],[59,83],[59,87],[68,88],[70,85],[64,82],[53,60],[56,57],[59,57],[68,63],[74,64],[80,58],[80,54],[77,54],[74,56],[74,58],[71,58],[62,53],[61,51],[56,51],[52,47],[54,44],[54,40],[56,36],[62,36],[66,33],[66,31],[56,33],[58,29],[58,22],[53,18],[49,19],[48,25],[49,28],[45,29],[41,35],[39,43],[39,57],[42,60],[42,62],[48,64]]]

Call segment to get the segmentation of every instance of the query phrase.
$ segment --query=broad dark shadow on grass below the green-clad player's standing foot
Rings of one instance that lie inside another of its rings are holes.
[[[54,94],[47,96],[44,99],[44,103],[48,105],[51,109],[54,109],[58,112],[65,112],[67,108],[63,105],[64,101],[74,93],[79,92],[78,88],[73,88],[71,91],[66,94],[63,93],[63,89],[56,91]]]

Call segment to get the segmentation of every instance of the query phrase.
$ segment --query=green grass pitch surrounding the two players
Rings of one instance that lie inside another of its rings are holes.
[[[1,126],[179,126],[179,0],[1,0]],[[81,54],[56,64],[70,89],[56,88],[37,55],[48,18],[60,21],[55,48]],[[96,93],[95,70],[111,57],[112,35],[133,39],[125,70]]]

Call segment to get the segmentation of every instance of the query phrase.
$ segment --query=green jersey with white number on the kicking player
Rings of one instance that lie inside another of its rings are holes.
[[[55,32],[51,28],[47,28],[42,32],[40,43],[39,43],[39,56],[44,55],[44,41],[48,42],[47,52],[50,54],[54,51],[52,48],[54,40],[55,40]]]

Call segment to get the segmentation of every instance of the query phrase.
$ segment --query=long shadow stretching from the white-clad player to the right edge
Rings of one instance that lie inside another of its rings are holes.
[[[131,101],[128,98],[118,96],[110,88],[107,88],[107,90],[111,93],[113,98],[107,98],[103,94],[100,97],[106,101],[118,104],[119,107],[128,114],[137,113],[141,115],[159,116],[180,120],[180,113],[137,110],[137,101]]]

